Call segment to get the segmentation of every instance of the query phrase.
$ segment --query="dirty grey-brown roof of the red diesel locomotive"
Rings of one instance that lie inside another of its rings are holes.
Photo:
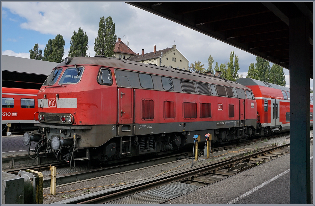
[[[74,57],[68,65],[66,65],[66,63],[63,61],[57,67],[71,66],[71,65],[108,66],[108,67],[113,67],[113,68],[127,69],[131,71],[157,74],[161,76],[169,76],[169,77],[175,77],[175,78],[181,78],[181,79],[188,79],[192,81],[207,82],[207,83],[214,83],[214,84],[219,84],[219,85],[249,89],[240,83],[229,81],[221,77],[215,77],[215,76],[210,76],[206,74],[201,75],[195,72],[175,69],[168,66],[154,66],[154,65],[144,64],[144,63],[138,63],[135,61],[116,59],[116,58],[110,58],[110,57]]]

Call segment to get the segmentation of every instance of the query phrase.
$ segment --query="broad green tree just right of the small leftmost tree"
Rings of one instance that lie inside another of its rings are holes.
[[[60,63],[65,53],[65,40],[61,34],[57,34],[54,39],[49,39],[44,49],[43,60]]]

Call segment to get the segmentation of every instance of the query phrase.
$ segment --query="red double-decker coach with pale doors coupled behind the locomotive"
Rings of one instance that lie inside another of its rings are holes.
[[[290,129],[290,92],[288,87],[241,78],[238,83],[252,89],[257,102],[257,136]],[[313,100],[310,95],[310,120],[313,125]]]

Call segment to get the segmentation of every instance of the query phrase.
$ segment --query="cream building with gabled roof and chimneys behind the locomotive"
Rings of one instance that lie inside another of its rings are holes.
[[[154,44],[153,52],[145,54],[144,49],[142,49],[142,55],[138,53],[138,55],[129,57],[127,60],[188,70],[189,61],[176,49],[175,44],[172,46],[171,48],[156,51],[156,45]]]

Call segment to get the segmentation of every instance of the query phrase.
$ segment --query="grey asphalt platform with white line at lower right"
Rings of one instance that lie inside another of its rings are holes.
[[[313,199],[311,145],[311,204]],[[289,204],[290,154],[187,193],[165,204]]]

